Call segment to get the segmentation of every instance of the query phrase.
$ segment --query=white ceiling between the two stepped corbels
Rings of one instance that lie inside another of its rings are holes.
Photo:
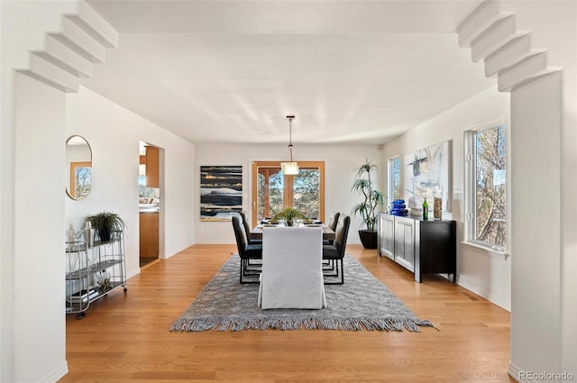
[[[121,33],[82,84],[193,142],[382,143],[492,87],[480,1],[88,1]]]

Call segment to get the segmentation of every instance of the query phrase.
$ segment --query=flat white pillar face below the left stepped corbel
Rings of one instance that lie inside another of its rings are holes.
[[[65,179],[60,171],[66,162],[64,105],[59,90],[16,76],[14,381],[43,381],[58,375],[55,367],[67,370],[62,307]]]

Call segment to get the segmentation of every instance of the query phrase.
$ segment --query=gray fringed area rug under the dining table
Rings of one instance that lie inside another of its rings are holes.
[[[257,305],[259,285],[241,285],[239,268],[240,259],[233,255],[170,326],[170,331],[402,331],[406,328],[420,332],[419,326],[433,326],[429,321],[419,320],[388,287],[348,254],[344,258],[344,285],[325,285],[328,307],[320,310],[261,310]]]

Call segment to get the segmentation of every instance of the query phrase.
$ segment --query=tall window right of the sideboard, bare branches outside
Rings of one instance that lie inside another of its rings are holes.
[[[465,132],[467,242],[505,251],[507,177],[505,125]]]

